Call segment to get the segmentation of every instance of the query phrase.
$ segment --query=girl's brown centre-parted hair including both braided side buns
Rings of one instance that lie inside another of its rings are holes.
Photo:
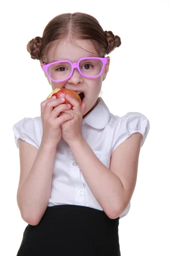
[[[121,45],[119,36],[113,35],[111,31],[104,31],[96,18],[85,13],[75,12],[54,17],[45,27],[42,38],[38,36],[28,42],[27,51],[32,59],[43,62],[49,47],[63,38],[71,41],[75,39],[90,40],[101,57]]]

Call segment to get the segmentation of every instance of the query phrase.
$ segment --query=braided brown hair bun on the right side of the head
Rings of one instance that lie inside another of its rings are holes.
[[[111,31],[105,31],[105,37],[108,41],[107,54],[111,53],[116,47],[121,45],[121,40],[118,35],[113,35]]]

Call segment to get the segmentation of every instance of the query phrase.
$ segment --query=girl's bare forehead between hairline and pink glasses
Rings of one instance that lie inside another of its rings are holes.
[[[61,40],[53,44],[47,53],[48,63],[60,60],[77,62],[80,58],[99,57],[93,42],[85,39],[77,39],[73,42]]]

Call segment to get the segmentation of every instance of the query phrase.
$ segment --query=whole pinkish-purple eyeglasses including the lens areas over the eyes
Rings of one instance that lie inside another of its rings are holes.
[[[108,63],[107,58],[81,58],[77,63],[71,61],[55,61],[42,66],[42,69],[47,73],[48,77],[54,82],[62,82],[71,78],[75,68],[79,73],[87,78],[96,78],[101,76],[105,64]]]

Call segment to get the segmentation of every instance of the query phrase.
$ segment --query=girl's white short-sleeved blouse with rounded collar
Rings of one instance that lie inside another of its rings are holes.
[[[102,98],[82,121],[82,134],[86,142],[108,169],[110,169],[111,154],[117,146],[137,132],[143,136],[143,145],[149,129],[150,124],[146,116],[138,112],[129,112],[122,117],[114,116]],[[14,124],[13,131],[17,148],[19,148],[18,139],[21,138],[39,149],[42,140],[41,116],[21,119]],[[85,182],[68,144],[62,138],[57,145],[48,206],[61,204],[103,210]],[[129,209],[130,203],[119,217],[127,215]]]

